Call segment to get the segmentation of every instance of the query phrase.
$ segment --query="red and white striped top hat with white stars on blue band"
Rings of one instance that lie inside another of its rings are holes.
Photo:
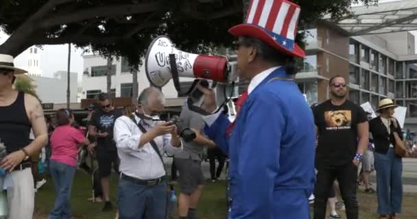
[[[283,53],[305,57],[295,43],[300,6],[287,0],[252,0],[243,24],[229,29],[234,36],[257,38]]]

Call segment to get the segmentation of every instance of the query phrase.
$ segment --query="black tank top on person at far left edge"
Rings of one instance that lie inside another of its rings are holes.
[[[11,105],[0,106],[0,142],[6,151],[12,153],[30,143],[29,133],[32,128],[25,109],[25,93],[19,92]]]

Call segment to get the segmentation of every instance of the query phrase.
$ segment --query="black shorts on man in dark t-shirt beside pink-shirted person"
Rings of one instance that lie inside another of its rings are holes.
[[[117,151],[99,151],[96,152],[97,163],[99,164],[99,175],[100,177],[110,176],[112,165],[113,169],[119,175],[119,157]]]

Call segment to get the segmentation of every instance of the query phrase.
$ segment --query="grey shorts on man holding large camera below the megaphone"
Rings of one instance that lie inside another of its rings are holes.
[[[180,172],[178,183],[182,194],[193,194],[198,185],[203,185],[204,176],[201,170],[201,162],[193,159],[174,158],[175,165]]]

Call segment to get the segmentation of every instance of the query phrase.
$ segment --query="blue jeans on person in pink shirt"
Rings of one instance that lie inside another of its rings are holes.
[[[71,218],[69,197],[71,196],[75,167],[53,160],[49,161],[49,165],[49,172],[55,184],[56,192],[55,206],[49,214],[49,219],[69,219]]]

